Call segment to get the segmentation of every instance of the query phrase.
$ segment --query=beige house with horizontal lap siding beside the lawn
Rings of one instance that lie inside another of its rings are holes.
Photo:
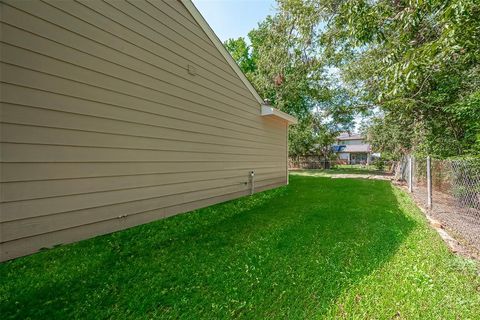
[[[0,10],[1,260],[288,183],[295,118],[189,0]]]

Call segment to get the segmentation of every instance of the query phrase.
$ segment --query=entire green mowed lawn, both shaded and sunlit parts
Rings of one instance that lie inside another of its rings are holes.
[[[386,181],[290,185],[0,265],[2,319],[478,319],[478,266]]]

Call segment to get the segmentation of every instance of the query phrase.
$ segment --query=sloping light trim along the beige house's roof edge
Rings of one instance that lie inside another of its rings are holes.
[[[222,41],[220,41],[220,39],[217,37],[215,32],[212,30],[212,28],[210,27],[208,22],[205,20],[205,18],[203,18],[202,14],[200,13],[200,11],[198,11],[197,7],[195,7],[193,2],[191,0],[179,0],[179,1],[184,5],[184,7],[192,15],[195,21],[200,25],[203,31],[207,34],[208,38],[210,38],[210,40],[213,42],[215,47],[217,47],[218,51],[220,51],[220,53],[225,58],[225,60],[227,60],[230,67],[240,77],[240,80],[242,80],[242,82],[245,84],[248,90],[252,93],[252,95],[255,97],[258,103],[262,104],[263,99],[260,97],[257,90],[255,90],[255,88],[252,86],[250,81],[248,81],[245,74],[243,74],[242,70],[240,70],[240,67],[237,65],[235,60],[233,60],[232,56],[227,51],[227,49],[225,49]]]

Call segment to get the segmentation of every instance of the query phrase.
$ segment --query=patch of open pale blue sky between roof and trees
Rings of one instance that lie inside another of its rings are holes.
[[[222,42],[246,38],[275,9],[275,0],[193,0],[193,3]]]

